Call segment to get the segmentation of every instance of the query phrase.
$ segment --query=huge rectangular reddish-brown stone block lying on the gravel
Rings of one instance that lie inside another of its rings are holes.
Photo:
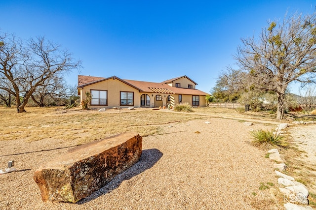
[[[99,190],[138,161],[142,137],[135,132],[91,142],[40,166],[34,173],[44,202],[72,202]]]

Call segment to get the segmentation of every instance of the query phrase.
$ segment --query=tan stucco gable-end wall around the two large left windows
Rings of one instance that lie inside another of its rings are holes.
[[[140,106],[140,92],[129,85],[117,80],[109,79],[99,83],[83,87],[80,91],[80,102],[85,99],[85,91],[90,90],[107,90],[108,91],[108,106],[92,106],[91,108],[112,108],[112,107],[131,107],[132,105],[120,105],[120,91],[134,92],[133,107]]]

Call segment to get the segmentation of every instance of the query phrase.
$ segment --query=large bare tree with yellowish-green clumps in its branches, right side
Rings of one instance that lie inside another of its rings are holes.
[[[271,22],[258,39],[242,38],[235,59],[247,72],[249,87],[274,91],[277,119],[282,118],[285,90],[293,81],[310,83],[316,72],[316,13]]]

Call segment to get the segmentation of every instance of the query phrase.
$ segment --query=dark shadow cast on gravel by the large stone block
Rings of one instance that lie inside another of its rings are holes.
[[[102,195],[111,192],[112,190],[119,187],[119,185],[124,180],[129,180],[132,177],[135,177],[147,169],[153,167],[158,160],[162,157],[162,152],[158,149],[149,149],[149,150],[142,150],[142,155],[139,158],[139,161],[131,166],[129,169],[124,171],[123,173],[117,175],[112,181],[110,181],[107,185],[102,187],[100,190],[92,193],[90,196],[78,201],[76,204],[84,204],[89,201],[92,201]]]

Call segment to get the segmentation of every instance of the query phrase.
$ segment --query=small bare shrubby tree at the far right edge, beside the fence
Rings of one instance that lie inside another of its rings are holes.
[[[298,106],[301,107],[303,112],[310,114],[316,109],[316,86],[315,84],[309,84],[299,90],[296,101]]]

